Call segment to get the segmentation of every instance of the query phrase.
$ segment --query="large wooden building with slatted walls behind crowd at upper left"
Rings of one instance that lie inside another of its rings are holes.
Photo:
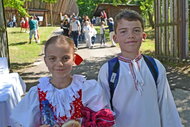
[[[79,9],[76,0],[57,0],[55,4],[42,2],[41,0],[32,0],[25,3],[25,8],[30,16],[38,16],[41,20],[40,25],[58,25],[60,24],[62,15],[78,15]],[[16,15],[17,24],[20,22],[21,16],[16,9],[5,8],[6,19],[11,20]]]

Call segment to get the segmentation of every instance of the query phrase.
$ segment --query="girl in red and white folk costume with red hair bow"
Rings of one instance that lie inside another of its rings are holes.
[[[83,127],[109,127],[114,117],[95,80],[71,75],[72,66],[81,58],[74,53],[74,42],[64,36],[51,37],[45,44],[45,64],[51,77],[39,79],[39,84],[13,110],[11,119],[23,127],[60,127],[77,120]]]

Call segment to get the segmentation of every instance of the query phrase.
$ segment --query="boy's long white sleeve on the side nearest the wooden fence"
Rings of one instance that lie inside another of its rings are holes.
[[[164,66],[156,61],[159,76],[157,81],[158,104],[162,127],[182,127],[179,114],[170,90]]]

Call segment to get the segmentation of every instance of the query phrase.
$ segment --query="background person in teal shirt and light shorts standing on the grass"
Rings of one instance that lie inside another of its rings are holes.
[[[34,20],[34,16],[30,18],[29,21],[29,28],[30,28],[30,33],[29,33],[29,44],[31,44],[32,41],[32,36],[34,35],[34,39],[36,43],[38,43],[38,36],[37,36],[37,21]]]

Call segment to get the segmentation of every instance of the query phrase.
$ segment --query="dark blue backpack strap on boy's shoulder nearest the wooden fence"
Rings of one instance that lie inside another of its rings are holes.
[[[147,56],[147,55],[142,55],[153,78],[154,78],[154,81],[155,81],[155,84],[156,84],[156,87],[157,87],[157,79],[158,79],[158,67],[157,67],[157,64],[154,60],[154,58],[150,57],[150,56]]]

